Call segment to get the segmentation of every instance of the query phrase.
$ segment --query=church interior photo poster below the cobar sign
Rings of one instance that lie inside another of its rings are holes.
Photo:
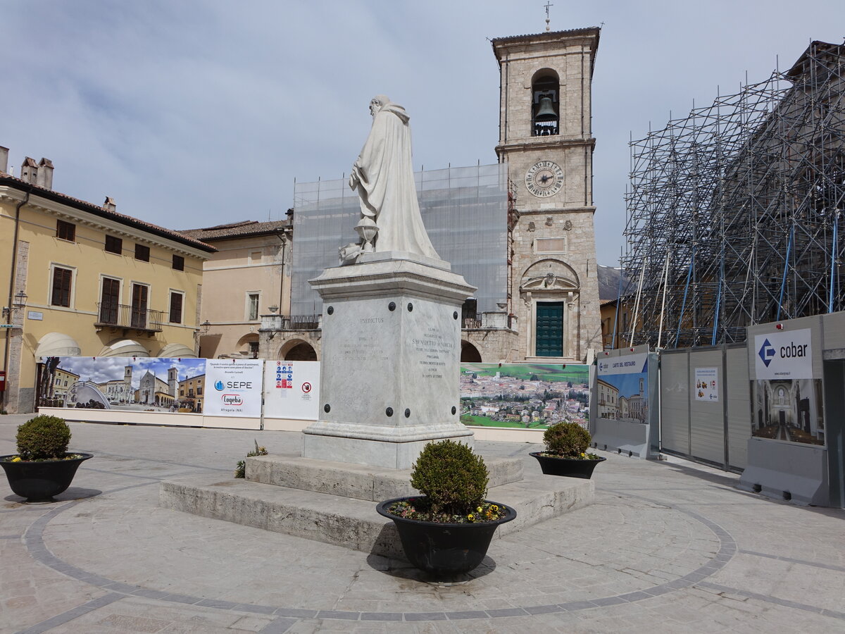
[[[755,380],[751,390],[752,436],[825,444],[820,379]]]

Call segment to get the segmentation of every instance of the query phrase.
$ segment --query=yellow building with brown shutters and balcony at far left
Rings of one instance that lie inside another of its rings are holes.
[[[52,191],[52,163],[8,174],[0,148],[3,408],[31,412],[38,358],[195,357],[203,262],[194,238]]]

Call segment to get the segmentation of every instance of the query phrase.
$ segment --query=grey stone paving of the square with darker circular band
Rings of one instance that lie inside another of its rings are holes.
[[[0,416],[0,454],[26,418]],[[297,433],[70,425],[95,457],[55,503],[0,482],[0,632],[845,631],[845,511],[679,459],[599,452],[595,504],[494,540],[446,586],[157,505],[162,479],[232,472],[254,440],[297,455]],[[476,445],[539,473],[537,445]]]

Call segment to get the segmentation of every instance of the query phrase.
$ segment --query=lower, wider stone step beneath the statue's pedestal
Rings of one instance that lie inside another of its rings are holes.
[[[513,522],[499,527],[494,538],[587,506],[594,495],[591,480],[542,475],[490,489],[488,500],[513,506],[517,513]],[[379,516],[376,502],[370,500],[203,475],[162,482],[159,505],[405,559],[394,523]]]

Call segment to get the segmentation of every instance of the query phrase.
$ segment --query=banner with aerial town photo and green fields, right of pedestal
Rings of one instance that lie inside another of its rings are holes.
[[[589,377],[582,364],[461,364],[461,423],[546,429],[571,421],[586,427]]]

